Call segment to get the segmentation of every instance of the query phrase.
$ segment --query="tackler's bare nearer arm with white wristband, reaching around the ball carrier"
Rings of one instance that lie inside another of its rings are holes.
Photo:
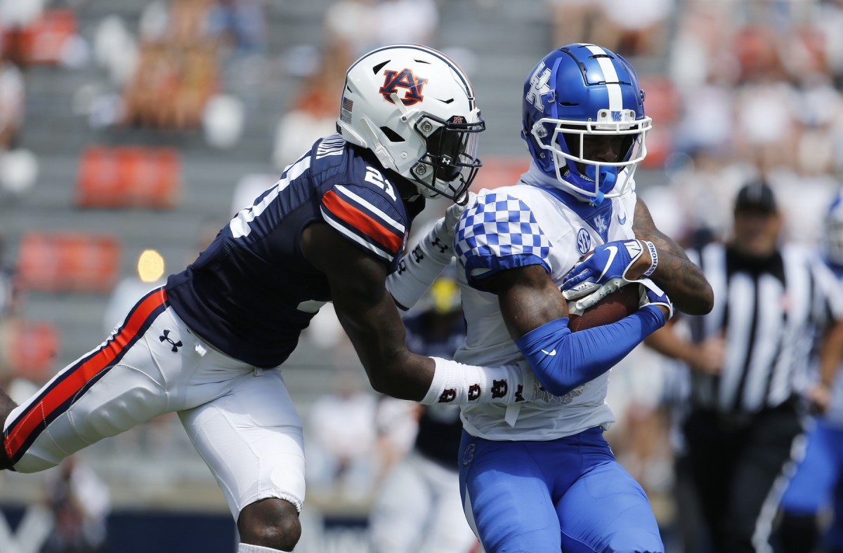
[[[513,403],[533,396],[534,376],[527,367],[476,367],[411,354],[384,286],[384,263],[321,223],[304,231],[302,245],[305,257],[327,277],[336,315],[376,391],[426,404]]]

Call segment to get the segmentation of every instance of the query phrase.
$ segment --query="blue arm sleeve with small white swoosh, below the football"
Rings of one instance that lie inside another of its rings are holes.
[[[644,338],[664,326],[656,306],[644,306],[618,322],[571,332],[568,318],[546,322],[515,341],[545,390],[564,396],[626,357]]]

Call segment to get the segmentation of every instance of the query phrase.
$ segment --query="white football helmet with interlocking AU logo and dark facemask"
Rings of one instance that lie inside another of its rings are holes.
[[[346,72],[336,126],[427,198],[468,199],[486,125],[468,77],[442,52],[391,45],[362,56]]]

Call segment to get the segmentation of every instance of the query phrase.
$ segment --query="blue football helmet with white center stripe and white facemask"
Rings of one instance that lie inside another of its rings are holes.
[[[572,44],[550,52],[529,73],[523,124],[521,136],[540,170],[578,199],[599,204],[631,188],[652,120],[628,61],[600,46]],[[614,138],[611,155],[589,159],[600,137]]]

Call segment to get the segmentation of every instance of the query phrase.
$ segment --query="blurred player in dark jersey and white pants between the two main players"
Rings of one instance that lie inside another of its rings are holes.
[[[452,359],[465,339],[453,269],[436,279],[404,318],[407,348]],[[389,472],[369,526],[376,553],[470,553],[477,539],[459,499],[459,406],[419,406],[415,444]]]

